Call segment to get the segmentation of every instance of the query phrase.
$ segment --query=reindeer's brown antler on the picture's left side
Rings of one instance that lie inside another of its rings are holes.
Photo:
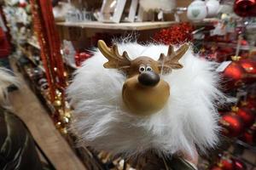
[[[124,53],[120,55],[116,44],[113,44],[112,48],[108,48],[103,40],[99,40],[98,48],[108,59],[108,62],[103,65],[105,68],[124,69],[131,65],[131,59],[127,52],[124,51]]]

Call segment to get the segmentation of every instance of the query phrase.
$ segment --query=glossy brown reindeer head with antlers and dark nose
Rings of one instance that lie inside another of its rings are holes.
[[[172,69],[182,68],[178,60],[186,53],[189,45],[183,44],[176,52],[169,46],[168,54],[160,54],[157,61],[146,56],[132,60],[126,52],[120,55],[116,44],[108,48],[102,40],[98,41],[98,48],[108,59],[105,68],[119,69],[127,75],[122,91],[125,105],[131,113],[145,116],[160,111],[166,105],[170,86],[160,78],[160,73],[167,74]]]

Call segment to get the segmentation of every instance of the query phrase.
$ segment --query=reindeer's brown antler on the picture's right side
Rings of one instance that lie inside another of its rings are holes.
[[[177,49],[176,52],[174,52],[174,49],[172,45],[168,48],[167,55],[160,54],[159,61],[159,67],[160,69],[163,69],[163,73],[169,73],[172,71],[172,69],[181,69],[183,68],[183,65],[181,65],[178,60],[183,57],[183,54],[187,52],[189,49],[189,44],[184,43],[180,48]]]

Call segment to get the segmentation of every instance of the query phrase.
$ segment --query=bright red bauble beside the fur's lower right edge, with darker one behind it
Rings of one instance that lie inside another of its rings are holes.
[[[222,132],[225,136],[237,137],[243,132],[244,125],[241,117],[237,116],[233,112],[227,113],[222,116],[219,122],[222,127],[224,127]]]

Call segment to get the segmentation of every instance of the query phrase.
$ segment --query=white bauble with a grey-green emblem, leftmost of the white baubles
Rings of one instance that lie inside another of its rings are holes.
[[[201,0],[195,0],[188,7],[187,16],[189,20],[201,21],[207,17],[207,5]]]

